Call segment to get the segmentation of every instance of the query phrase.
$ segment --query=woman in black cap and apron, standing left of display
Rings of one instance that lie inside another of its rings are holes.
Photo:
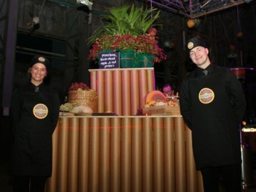
[[[57,92],[44,84],[48,68],[46,57],[35,56],[28,70],[30,82],[15,89],[11,98],[14,192],[43,192],[52,173],[52,133],[60,102]]]

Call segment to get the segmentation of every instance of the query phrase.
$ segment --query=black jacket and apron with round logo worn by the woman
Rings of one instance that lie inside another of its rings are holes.
[[[32,83],[13,91],[13,175],[51,176],[52,133],[59,119],[59,106],[58,94],[44,83],[39,85],[39,92]]]

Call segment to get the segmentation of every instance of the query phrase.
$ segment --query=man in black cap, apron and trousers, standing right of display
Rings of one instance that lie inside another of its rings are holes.
[[[187,51],[197,68],[181,83],[180,109],[192,131],[204,192],[219,191],[220,177],[227,192],[241,191],[239,123],[246,108],[242,86],[231,70],[211,64],[203,40],[190,39]]]

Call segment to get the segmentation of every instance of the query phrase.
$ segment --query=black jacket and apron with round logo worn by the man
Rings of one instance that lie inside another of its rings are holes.
[[[246,102],[242,86],[227,68],[210,64],[184,78],[180,109],[192,131],[197,169],[241,163],[239,123]]]

